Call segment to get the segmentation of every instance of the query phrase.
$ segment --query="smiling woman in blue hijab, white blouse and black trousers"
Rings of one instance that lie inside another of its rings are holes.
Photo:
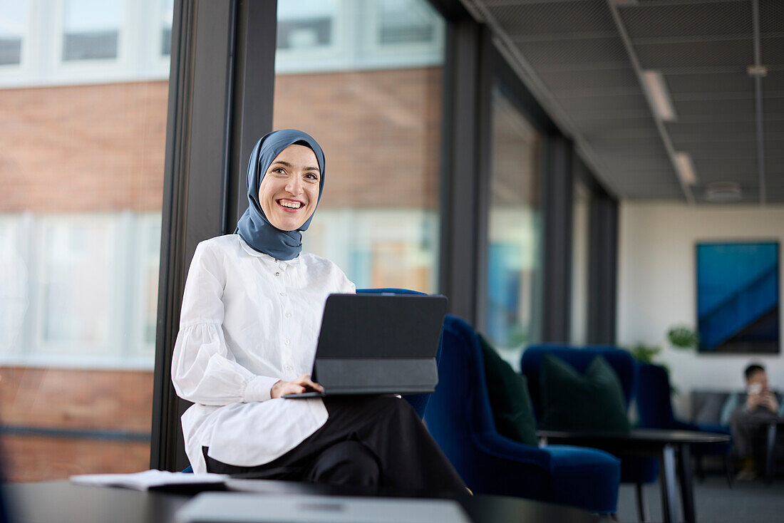
[[[183,436],[195,472],[430,490],[465,488],[408,402],[313,398],[326,297],[354,292],[302,249],[324,189],[318,143],[294,129],[253,148],[249,208],[235,234],[201,242],[188,272],[172,381],[194,405]]]

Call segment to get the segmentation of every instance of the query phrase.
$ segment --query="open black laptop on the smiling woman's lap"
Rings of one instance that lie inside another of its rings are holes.
[[[433,392],[446,305],[445,296],[329,295],[310,373],[324,392],[284,398]]]

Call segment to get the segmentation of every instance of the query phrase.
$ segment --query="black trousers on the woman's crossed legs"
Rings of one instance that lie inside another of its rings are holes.
[[[296,400],[290,400],[296,401]],[[455,492],[465,483],[414,409],[394,396],[325,398],[327,422],[296,448],[257,467],[204,456],[207,470],[254,478]]]

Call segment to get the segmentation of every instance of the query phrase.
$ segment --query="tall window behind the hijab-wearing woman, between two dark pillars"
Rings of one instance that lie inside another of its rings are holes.
[[[435,292],[444,22],[426,0],[314,3],[281,0],[276,56],[274,128],[310,133],[327,158],[304,248],[360,288]],[[331,69],[297,49],[331,53]]]

